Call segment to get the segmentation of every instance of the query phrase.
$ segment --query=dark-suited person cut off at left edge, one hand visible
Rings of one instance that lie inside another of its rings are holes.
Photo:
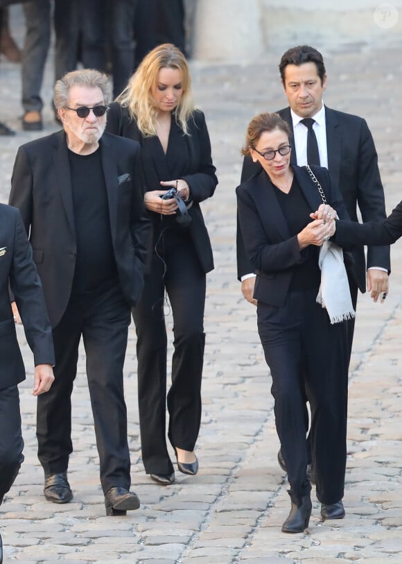
[[[51,325],[21,216],[14,207],[0,204],[0,504],[24,461],[18,384],[25,379],[25,368],[9,289],[15,296],[26,340],[33,351],[33,395],[40,396],[54,380]],[[0,536],[0,562],[2,558]]]

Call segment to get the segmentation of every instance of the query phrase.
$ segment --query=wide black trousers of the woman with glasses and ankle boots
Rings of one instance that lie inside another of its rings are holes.
[[[272,375],[275,423],[288,470],[290,496],[301,503],[306,479],[306,396],[311,407],[311,455],[317,498],[338,502],[344,493],[349,345],[347,323],[329,323],[315,302],[317,289],[290,292],[283,307],[259,302],[258,327]]]

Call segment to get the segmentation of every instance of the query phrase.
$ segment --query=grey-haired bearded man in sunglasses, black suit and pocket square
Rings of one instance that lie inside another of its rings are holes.
[[[122,515],[139,507],[123,395],[130,308],[141,294],[150,234],[139,144],[104,133],[105,74],[68,73],[53,100],[63,130],[19,147],[10,193],[30,235],[55,345],[55,383],[37,404],[44,495],[59,504],[73,497],[71,393],[82,337],[106,514]]]

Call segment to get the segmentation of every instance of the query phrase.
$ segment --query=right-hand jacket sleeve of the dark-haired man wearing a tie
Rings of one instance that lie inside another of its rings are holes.
[[[362,119],[358,159],[358,207],[362,221],[383,221],[386,217],[384,190],[378,171],[378,157],[367,123]],[[367,268],[381,266],[390,271],[390,248],[367,248]]]

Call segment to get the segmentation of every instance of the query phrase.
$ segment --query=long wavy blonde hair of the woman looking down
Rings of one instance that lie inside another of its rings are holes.
[[[128,108],[130,117],[137,121],[137,126],[145,137],[157,134],[158,109],[155,105],[154,92],[159,71],[164,68],[177,69],[182,73],[182,97],[173,114],[184,134],[189,135],[187,120],[195,110],[189,65],[180,49],[171,43],[164,43],[152,49],[143,58],[128,85],[116,98],[116,102],[119,102],[123,108]]]

